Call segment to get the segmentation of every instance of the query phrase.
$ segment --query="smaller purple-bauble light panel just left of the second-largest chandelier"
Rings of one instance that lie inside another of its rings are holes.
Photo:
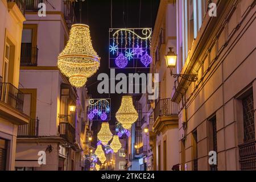
[[[90,121],[110,121],[110,98],[90,99],[87,116]]]

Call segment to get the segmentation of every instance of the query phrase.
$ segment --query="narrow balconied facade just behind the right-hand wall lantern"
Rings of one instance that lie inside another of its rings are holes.
[[[166,67],[165,55],[176,45],[175,1],[160,1],[152,35],[151,73],[159,77],[158,98],[151,101],[153,113],[149,118],[150,144],[153,151],[153,169],[171,171],[179,166],[178,105],[171,100],[174,78]]]

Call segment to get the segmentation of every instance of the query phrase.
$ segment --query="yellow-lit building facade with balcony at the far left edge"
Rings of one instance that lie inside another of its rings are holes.
[[[30,117],[23,111],[18,89],[20,44],[24,17],[22,1],[0,1],[0,171],[15,169],[18,126]]]

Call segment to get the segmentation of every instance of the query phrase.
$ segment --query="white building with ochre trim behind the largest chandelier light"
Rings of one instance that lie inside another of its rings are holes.
[[[74,89],[57,68],[57,56],[69,36],[72,4],[46,3],[46,16],[39,17],[38,3],[27,1],[22,31],[19,88],[25,94],[24,111],[31,120],[18,129],[15,167],[80,171],[84,169],[84,152],[89,153],[87,93],[85,88]]]

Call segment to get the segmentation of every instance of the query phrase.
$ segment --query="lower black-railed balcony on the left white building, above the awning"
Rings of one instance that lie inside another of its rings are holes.
[[[18,126],[18,138],[38,137],[39,119],[30,119],[27,125]]]

